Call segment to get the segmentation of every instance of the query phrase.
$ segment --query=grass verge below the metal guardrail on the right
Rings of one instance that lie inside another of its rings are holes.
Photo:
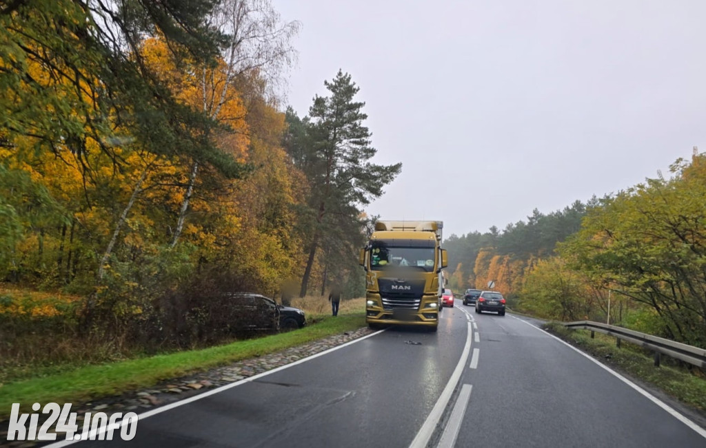
[[[618,349],[615,337],[598,332],[592,339],[590,330],[569,330],[556,322],[546,323],[543,328],[616,370],[654,385],[696,409],[706,411],[706,378],[698,369],[680,367],[667,356],[662,356],[660,367],[654,367],[651,352],[626,341],[622,341]]]

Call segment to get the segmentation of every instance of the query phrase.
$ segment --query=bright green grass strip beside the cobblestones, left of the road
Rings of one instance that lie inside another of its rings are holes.
[[[364,327],[364,313],[316,316],[316,323],[301,330],[270,335],[253,340],[208,349],[179,351],[102,365],[83,366],[73,371],[43,378],[8,382],[0,385],[0,416],[8,416],[11,404],[29,409],[32,403],[78,403],[145,388],[157,382],[223,366],[319,340],[341,332]]]

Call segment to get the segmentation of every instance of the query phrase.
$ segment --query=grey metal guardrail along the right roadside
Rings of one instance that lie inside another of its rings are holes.
[[[594,332],[604,333],[616,337],[616,345],[620,347],[621,340],[638,344],[642,347],[654,351],[654,365],[659,366],[660,355],[671,356],[674,359],[692,364],[700,368],[706,368],[706,349],[700,349],[691,345],[674,342],[664,337],[647,335],[638,331],[628,330],[627,328],[616,327],[606,323],[577,321],[563,323],[567,328],[582,328],[591,330],[591,337]]]

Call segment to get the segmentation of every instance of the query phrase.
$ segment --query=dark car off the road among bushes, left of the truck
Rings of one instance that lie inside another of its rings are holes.
[[[238,312],[239,324],[251,330],[296,330],[306,325],[301,309],[277,304],[273,299],[252,292],[228,294]]]

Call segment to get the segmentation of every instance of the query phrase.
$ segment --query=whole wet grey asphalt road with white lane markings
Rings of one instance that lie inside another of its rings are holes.
[[[157,409],[130,442],[78,446],[706,446],[706,432],[542,330],[456,304],[436,334],[377,332]]]

